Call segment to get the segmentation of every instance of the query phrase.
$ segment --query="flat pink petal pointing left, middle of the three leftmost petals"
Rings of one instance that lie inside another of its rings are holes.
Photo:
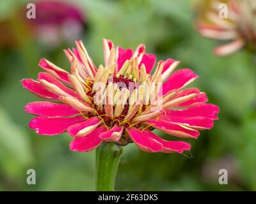
[[[71,106],[61,103],[52,103],[48,101],[28,103],[25,106],[25,110],[27,113],[42,115],[46,117],[67,117],[79,113]]]

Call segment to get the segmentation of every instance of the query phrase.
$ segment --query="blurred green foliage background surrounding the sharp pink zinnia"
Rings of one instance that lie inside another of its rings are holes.
[[[67,134],[38,136],[31,131],[28,123],[33,116],[24,112],[24,105],[40,99],[23,89],[20,80],[36,78],[42,57],[69,69],[62,50],[74,47],[79,39],[99,66],[102,38],[124,48],[144,43],[157,61],[181,61],[179,68],[200,75],[193,86],[207,92],[209,102],[221,110],[211,131],[188,140],[191,154],[150,154],[134,144],[125,147],[116,190],[256,190],[255,53],[243,50],[216,57],[212,48],[218,42],[196,32],[195,1],[68,1],[82,17],[70,15],[76,26],[55,19],[54,12],[68,15],[61,7],[43,13],[38,8],[41,20],[28,20],[26,6],[33,2],[0,1],[0,191],[94,190],[95,151],[71,152],[72,138]],[[31,168],[36,185],[26,183]],[[228,185],[218,183],[222,168],[228,171]]]

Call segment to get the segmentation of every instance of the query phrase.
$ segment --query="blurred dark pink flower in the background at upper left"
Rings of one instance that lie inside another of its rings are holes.
[[[28,23],[38,39],[50,46],[81,38],[86,19],[74,4],[61,0],[35,2],[36,18]]]

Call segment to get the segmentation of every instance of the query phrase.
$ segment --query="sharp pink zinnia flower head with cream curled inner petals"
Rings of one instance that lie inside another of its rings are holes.
[[[173,72],[179,61],[167,59],[150,75],[156,56],[146,54],[144,45],[135,52],[115,48],[110,40],[104,39],[103,45],[105,66],[96,68],[82,41],[76,41],[77,48],[65,50],[70,73],[41,59],[39,66],[46,72],[36,81],[22,80],[28,91],[47,100],[26,105],[27,113],[37,115],[29,128],[50,136],[67,131],[74,137],[70,149],[79,152],[102,142],[134,142],[143,151],[165,153],[182,153],[191,145],[163,140],[152,129],[198,138],[199,130],[212,128],[218,106],[206,103],[199,89],[183,89],[198,78],[191,69]]]

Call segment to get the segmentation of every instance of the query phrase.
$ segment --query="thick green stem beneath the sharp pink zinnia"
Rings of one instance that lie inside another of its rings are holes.
[[[122,147],[103,142],[96,151],[96,191],[113,191]]]

